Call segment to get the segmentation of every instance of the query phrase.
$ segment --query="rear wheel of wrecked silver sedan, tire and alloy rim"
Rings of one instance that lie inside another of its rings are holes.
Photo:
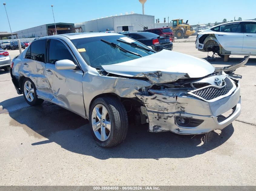
[[[31,106],[40,105],[44,102],[43,99],[37,97],[35,84],[29,78],[24,78],[22,92],[26,102]]]

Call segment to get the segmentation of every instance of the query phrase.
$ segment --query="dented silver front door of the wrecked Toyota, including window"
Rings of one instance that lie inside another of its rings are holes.
[[[83,72],[68,46],[59,39],[48,42],[48,56],[45,75],[52,89],[52,102],[85,117],[83,100],[82,77]],[[75,70],[57,70],[55,62],[68,59],[73,61]]]

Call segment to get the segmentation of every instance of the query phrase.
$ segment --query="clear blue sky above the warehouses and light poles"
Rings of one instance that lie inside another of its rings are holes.
[[[12,32],[53,23],[52,8],[56,22],[77,23],[101,17],[125,14],[125,12],[142,14],[138,0],[2,0],[0,3],[0,31],[10,32],[5,8],[12,27]],[[228,21],[241,17],[243,20],[256,18],[255,0],[205,0],[205,1],[159,1],[147,0],[145,14],[154,15],[155,19],[169,16],[169,20],[183,18],[189,24],[214,23],[226,18]],[[18,15],[20,14],[20,15]]]

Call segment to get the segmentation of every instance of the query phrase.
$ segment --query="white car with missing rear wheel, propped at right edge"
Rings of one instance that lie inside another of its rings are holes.
[[[202,52],[256,56],[256,21],[234,21],[204,30],[196,37],[196,48]]]

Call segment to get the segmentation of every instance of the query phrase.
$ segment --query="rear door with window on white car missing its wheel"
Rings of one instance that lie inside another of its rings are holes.
[[[215,37],[221,46],[227,51],[242,52],[244,34],[241,23],[224,24],[219,27]]]

